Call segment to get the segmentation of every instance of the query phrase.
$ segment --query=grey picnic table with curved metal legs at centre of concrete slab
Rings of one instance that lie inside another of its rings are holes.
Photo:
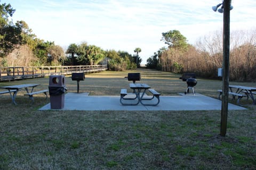
[[[133,90],[133,94],[135,94],[135,97],[133,98],[125,98],[125,96],[127,95],[127,89],[121,89],[121,98],[120,98],[120,103],[122,105],[138,105],[139,103],[141,103],[142,105],[147,105],[147,106],[156,106],[159,103],[159,96],[160,94],[154,90],[154,89],[150,89],[150,86],[148,86],[148,84],[145,83],[130,83],[129,87]],[[151,94],[153,94],[153,97],[151,98],[143,98],[145,95],[145,92],[149,90],[149,92],[151,92]],[[146,104],[143,103],[143,100],[152,100],[154,97],[157,98],[157,103],[154,104]],[[125,104],[123,103],[123,100],[137,100],[137,103],[129,103],[129,104]]]

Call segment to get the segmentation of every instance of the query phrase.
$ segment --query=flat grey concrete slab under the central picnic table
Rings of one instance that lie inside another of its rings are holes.
[[[180,94],[180,96],[160,96],[157,106],[123,106],[120,96],[88,96],[89,93],[67,93],[64,108],[58,110],[70,111],[206,111],[221,110],[221,100],[201,94]],[[147,101],[155,102],[155,101]],[[146,101],[145,101],[146,103]],[[51,109],[50,103],[39,110]],[[246,109],[241,106],[228,104],[229,110]]]

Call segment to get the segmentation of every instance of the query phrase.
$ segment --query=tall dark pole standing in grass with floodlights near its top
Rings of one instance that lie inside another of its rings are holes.
[[[220,135],[225,137],[228,120],[228,86],[229,86],[229,37],[230,37],[231,0],[223,1],[223,77]]]

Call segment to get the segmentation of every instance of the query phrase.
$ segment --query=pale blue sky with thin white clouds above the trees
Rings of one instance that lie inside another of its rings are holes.
[[[162,33],[179,30],[194,45],[199,38],[223,30],[223,14],[212,6],[222,0],[2,0],[16,10],[12,20],[25,21],[33,33],[64,50],[70,44],[121,50],[142,64],[166,47]],[[233,0],[230,31],[256,29],[256,1]]]

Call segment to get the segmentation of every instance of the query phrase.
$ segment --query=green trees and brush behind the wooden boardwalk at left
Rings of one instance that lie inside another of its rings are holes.
[[[64,52],[54,41],[37,38],[25,21],[13,23],[14,12],[10,4],[0,4],[0,66],[93,65],[107,58],[109,69],[120,71],[135,69],[142,61],[140,48],[131,55],[83,42],[70,44]]]

